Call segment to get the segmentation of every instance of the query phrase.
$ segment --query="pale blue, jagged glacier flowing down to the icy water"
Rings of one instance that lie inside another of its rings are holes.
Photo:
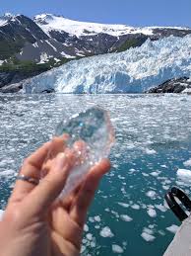
[[[169,37],[120,53],[72,60],[23,83],[23,93],[142,93],[162,82],[191,76],[191,35]]]

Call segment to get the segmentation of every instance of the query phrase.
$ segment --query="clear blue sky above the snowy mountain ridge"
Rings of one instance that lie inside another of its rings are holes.
[[[0,4],[1,13],[30,17],[45,12],[79,21],[191,27],[191,0],[1,0]]]

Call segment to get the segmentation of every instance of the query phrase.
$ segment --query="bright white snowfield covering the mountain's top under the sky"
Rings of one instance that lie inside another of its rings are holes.
[[[66,19],[63,16],[55,16],[52,14],[36,15],[33,21],[48,35],[51,35],[51,31],[64,31],[78,38],[83,36],[93,36],[99,33],[113,37],[119,37],[127,34],[143,34],[151,36],[155,34],[156,29],[189,30],[189,28],[183,27],[134,28],[126,25],[78,22]]]

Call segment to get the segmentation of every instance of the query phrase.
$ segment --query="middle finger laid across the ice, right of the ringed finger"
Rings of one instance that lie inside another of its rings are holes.
[[[29,197],[26,198],[35,213],[47,211],[47,208],[59,196],[72,168],[72,160],[74,160],[72,152],[68,152],[67,155],[59,153],[54,159],[49,173],[32,190]]]

